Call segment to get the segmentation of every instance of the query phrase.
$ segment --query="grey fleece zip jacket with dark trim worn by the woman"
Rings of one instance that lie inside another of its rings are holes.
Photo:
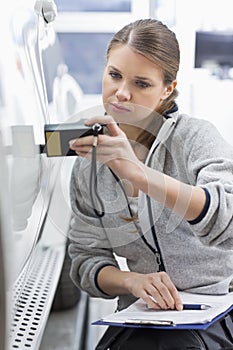
[[[90,200],[90,161],[77,157],[71,176],[69,254],[71,278],[90,296],[114,298],[97,284],[106,265],[130,271],[165,269],[178,290],[225,294],[233,280],[233,148],[209,122],[179,114],[164,122],[146,163],[206,192],[200,216],[188,222],[145,193],[127,198],[110,169],[97,163],[97,188],[105,215],[96,217]],[[127,220],[137,204],[138,221]],[[135,301],[119,296],[118,309]]]

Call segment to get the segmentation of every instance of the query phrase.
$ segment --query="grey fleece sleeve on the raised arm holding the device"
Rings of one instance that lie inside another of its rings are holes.
[[[233,147],[211,123],[202,125],[189,140],[187,168],[191,182],[205,190],[207,203],[200,220],[189,223],[203,244],[229,248],[233,247]]]

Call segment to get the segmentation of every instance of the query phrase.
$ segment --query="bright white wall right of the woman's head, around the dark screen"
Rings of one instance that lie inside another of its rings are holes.
[[[213,122],[233,144],[233,80],[218,80],[203,69],[194,69],[196,30],[232,30],[232,1],[177,0],[176,28],[181,46],[178,75],[179,104],[184,112]]]

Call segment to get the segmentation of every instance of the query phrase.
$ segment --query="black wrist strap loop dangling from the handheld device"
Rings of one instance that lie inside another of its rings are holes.
[[[104,216],[104,204],[100,198],[97,190],[97,160],[96,160],[96,148],[98,144],[99,131],[102,129],[102,125],[96,123],[92,126],[93,129],[93,144],[92,144],[92,158],[91,158],[91,173],[90,173],[90,198],[94,212],[97,217]]]

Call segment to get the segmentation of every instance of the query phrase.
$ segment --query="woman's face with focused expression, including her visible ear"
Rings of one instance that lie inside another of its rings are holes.
[[[158,66],[128,45],[111,49],[102,80],[106,112],[117,122],[145,119],[173,91],[176,82],[165,86]]]

